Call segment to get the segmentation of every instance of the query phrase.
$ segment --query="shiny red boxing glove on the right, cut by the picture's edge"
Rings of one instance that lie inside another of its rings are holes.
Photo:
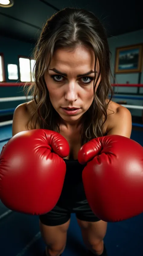
[[[94,214],[106,222],[129,219],[143,212],[143,147],[119,135],[84,144],[78,161],[87,163],[82,178]]]

